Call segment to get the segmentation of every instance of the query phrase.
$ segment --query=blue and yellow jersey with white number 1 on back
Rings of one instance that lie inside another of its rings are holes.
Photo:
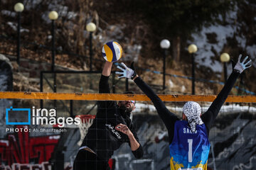
[[[192,132],[187,121],[176,121],[169,148],[171,170],[206,170],[210,151],[206,125],[196,125]]]

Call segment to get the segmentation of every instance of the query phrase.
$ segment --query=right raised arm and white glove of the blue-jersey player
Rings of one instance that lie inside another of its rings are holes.
[[[203,123],[206,124],[208,130],[210,130],[210,126],[213,124],[215,118],[217,117],[218,113],[220,112],[221,106],[228,98],[228,94],[230,93],[231,89],[233,88],[235,81],[238,79],[239,75],[247,68],[251,67],[252,60],[249,60],[248,56],[245,57],[244,60],[241,61],[242,55],[239,55],[238,62],[235,64],[232,74],[228,78],[228,81],[223,86],[223,89],[218,94],[217,98],[213,101],[208,108],[208,111],[202,115]]]

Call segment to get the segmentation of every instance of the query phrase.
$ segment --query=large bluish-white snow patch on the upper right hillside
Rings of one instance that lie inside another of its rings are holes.
[[[200,33],[193,33],[193,41],[188,40],[188,43],[196,44],[198,47],[198,52],[196,52],[195,61],[198,65],[203,65],[213,69],[213,72],[223,72],[223,64],[220,60],[212,60],[212,57],[215,56],[212,49],[221,55],[223,52],[223,47],[227,43],[227,38],[233,38],[235,36],[238,40],[238,45],[247,51],[247,54],[254,57],[256,55],[256,45],[246,46],[246,39],[243,35],[237,35],[236,33],[240,30],[242,23],[237,23],[237,13],[238,7],[235,7],[234,11],[230,11],[227,15],[226,21],[228,25],[221,26],[212,24],[211,26],[204,26]],[[219,16],[220,20],[222,17]],[[208,42],[206,34],[215,33],[217,43]],[[255,64],[256,65],[256,64]],[[228,74],[232,71],[231,64],[228,64]]]

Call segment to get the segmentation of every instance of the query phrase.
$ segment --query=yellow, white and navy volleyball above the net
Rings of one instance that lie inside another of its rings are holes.
[[[102,56],[108,62],[117,62],[122,57],[122,47],[119,43],[110,41],[102,47]]]

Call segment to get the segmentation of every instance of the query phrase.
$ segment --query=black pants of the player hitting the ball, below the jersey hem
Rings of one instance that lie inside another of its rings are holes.
[[[93,154],[85,149],[81,149],[73,164],[73,170],[110,170],[110,166],[107,162],[102,161]]]

